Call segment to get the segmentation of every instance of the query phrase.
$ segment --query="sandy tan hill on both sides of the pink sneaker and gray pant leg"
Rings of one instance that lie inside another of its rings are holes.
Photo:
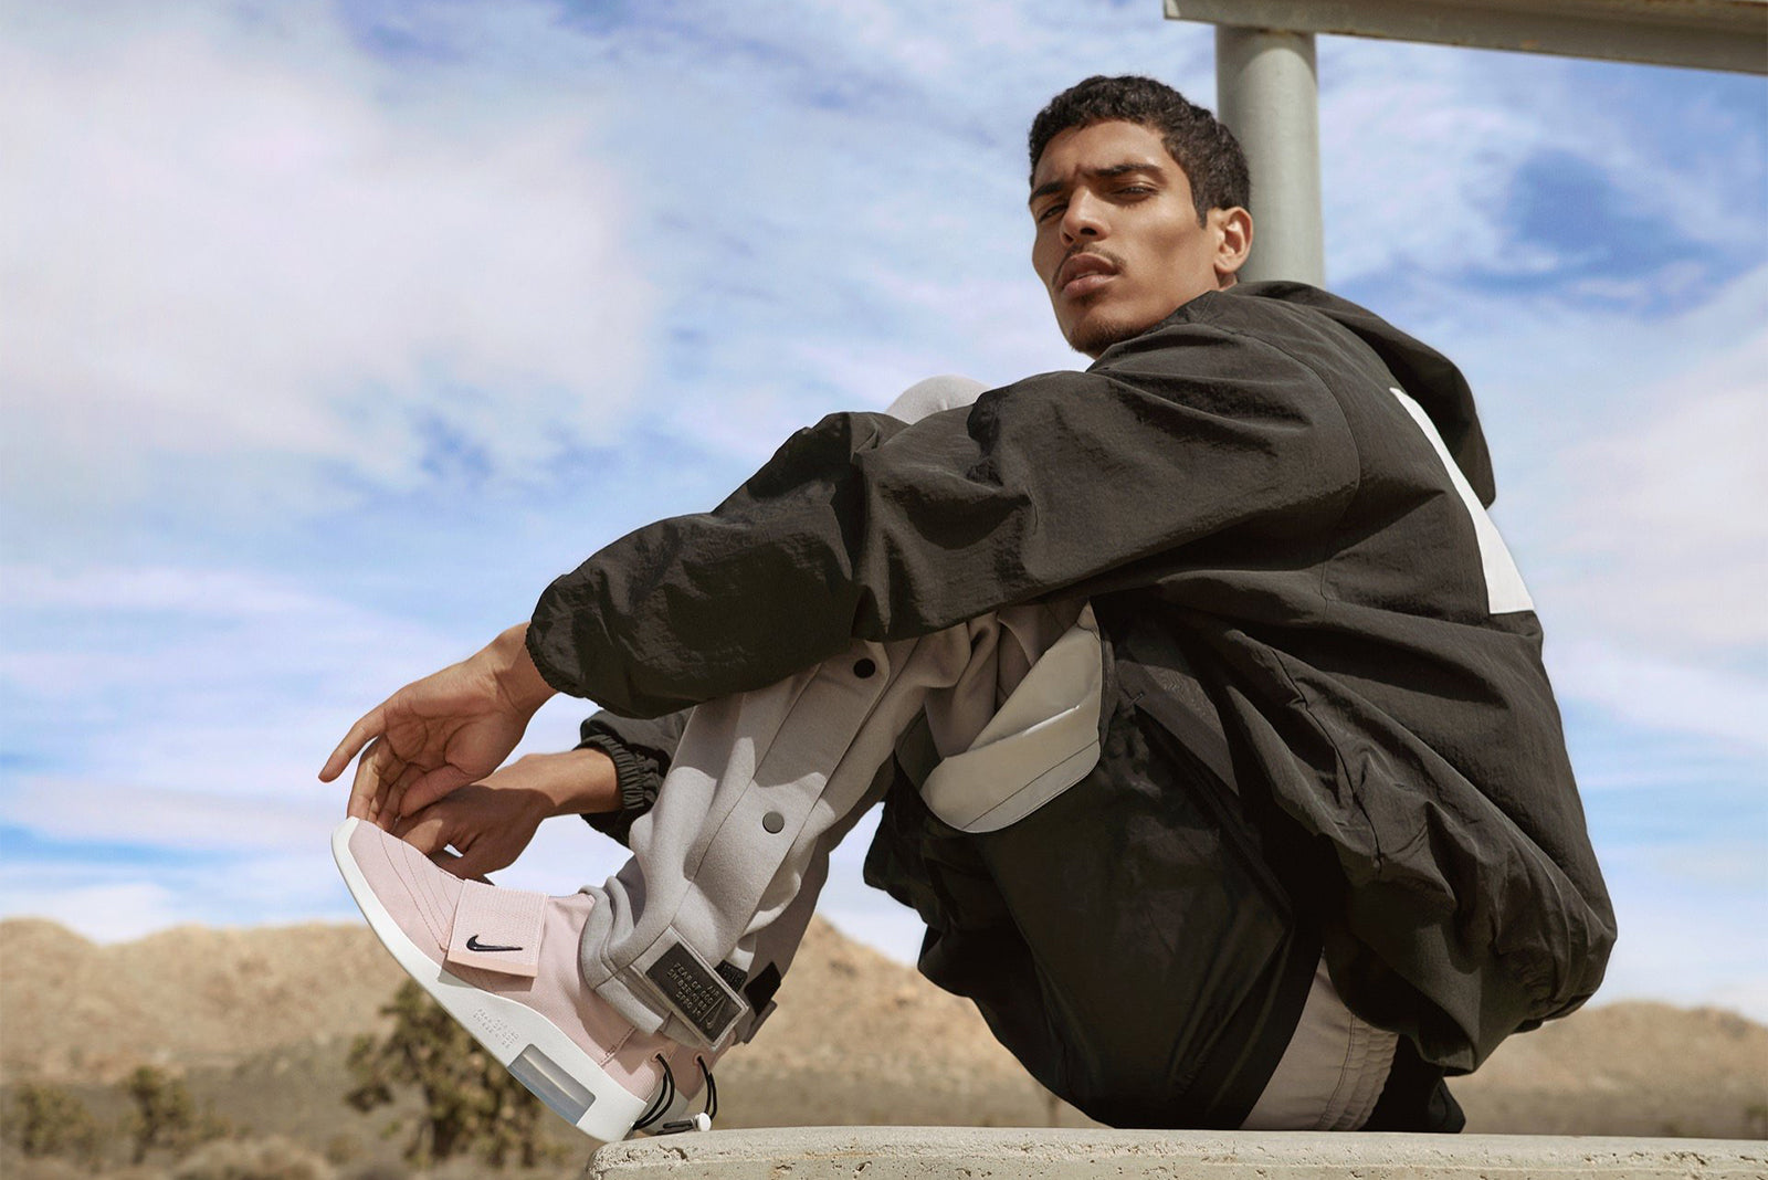
[[[101,947],[5,920],[0,1081],[110,1083],[145,1062],[260,1088],[318,1074],[341,1093],[348,1042],[382,1025],[401,979],[366,926],[177,927]],[[1025,1125],[1059,1106],[967,1002],[820,919],[778,1002],[718,1069],[721,1125]]]

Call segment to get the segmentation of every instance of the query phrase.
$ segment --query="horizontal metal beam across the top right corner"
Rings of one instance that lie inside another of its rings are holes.
[[[1768,0],[1163,0],[1167,19],[1768,74]]]

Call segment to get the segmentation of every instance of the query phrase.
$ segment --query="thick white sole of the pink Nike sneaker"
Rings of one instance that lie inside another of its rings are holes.
[[[534,1009],[481,991],[424,954],[380,904],[350,855],[357,823],[361,820],[345,820],[332,832],[332,859],[370,929],[405,973],[555,1115],[603,1143],[624,1139],[649,1102],[603,1072],[564,1030]]]

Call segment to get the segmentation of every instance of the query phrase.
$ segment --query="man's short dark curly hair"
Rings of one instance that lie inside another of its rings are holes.
[[[1031,170],[1038,170],[1043,148],[1061,132],[1112,118],[1140,124],[1160,134],[1167,154],[1192,182],[1199,224],[1211,208],[1245,208],[1252,200],[1246,154],[1234,132],[1167,83],[1135,74],[1094,74],[1050,99],[1031,120]]]

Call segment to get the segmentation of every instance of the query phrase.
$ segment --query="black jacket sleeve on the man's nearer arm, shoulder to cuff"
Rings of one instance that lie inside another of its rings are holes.
[[[714,511],[628,533],[553,581],[529,652],[562,692],[659,715],[773,684],[854,638],[1093,592],[1229,530],[1317,530],[1356,470],[1307,366],[1236,332],[1169,325],[1086,373],[912,426],[822,419]]]

